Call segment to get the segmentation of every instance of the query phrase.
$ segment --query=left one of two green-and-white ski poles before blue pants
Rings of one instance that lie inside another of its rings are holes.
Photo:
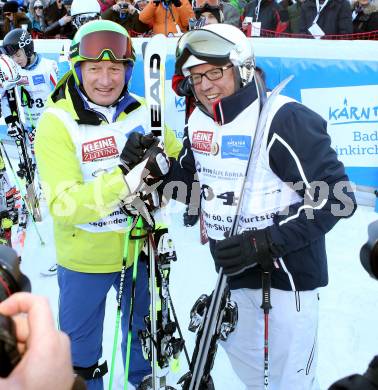
[[[129,254],[129,241],[130,241],[130,233],[131,233],[130,227],[131,226],[132,226],[132,217],[128,217],[127,218],[126,234],[125,234],[125,243],[124,243],[124,247],[123,247],[122,269],[121,269],[121,276],[120,276],[120,283],[119,283],[119,290],[118,290],[118,297],[117,297],[117,314],[116,314],[116,322],[115,322],[115,329],[114,329],[112,361],[110,364],[110,373],[109,373],[109,387],[108,387],[109,390],[113,389],[115,357],[116,357],[117,345],[118,345],[119,321],[121,318],[121,302],[122,302],[122,294],[123,294],[123,283],[124,283],[125,274],[126,274],[127,256]]]

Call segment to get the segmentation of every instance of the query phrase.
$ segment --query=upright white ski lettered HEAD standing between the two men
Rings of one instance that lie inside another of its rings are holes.
[[[165,109],[165,62],[167,41],[163,34],[158,34],[144,46],[144,83],[145,100],[149,112],[151,132],[160,138],[164,145],[164,109]],[[158,211],[155,219],[162,218]],[[184,349],[189,362],[189,355],[178,324],[176,312],[169,293],[169,274],[176,252],[168,230],[148,232],[149,288],[151,296],[150,314],[145,318],[146,329],[139,332],[145,357],[151,362],[152,376],[147,377],[139,386],[144,389],[173,389],[167,386],[169,370],[177,370],[179,355]],[[174,320],[171,319],[171,312]],[[179,337],[175,337],[175,332]]]

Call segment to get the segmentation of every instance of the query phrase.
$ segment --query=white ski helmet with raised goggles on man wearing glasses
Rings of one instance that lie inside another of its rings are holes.
[[[254,75],[255,57],[249,39],[230,24],[209,24],[185,33],[176,47],[176,72],[189,75],[189,68],[210,63],[225,65],[231,62],[239,71],[241,86]]]

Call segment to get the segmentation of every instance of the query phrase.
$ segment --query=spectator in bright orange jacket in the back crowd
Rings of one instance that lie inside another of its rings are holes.
[[[139,20],[152,25],[154,34],[179,36],[188,30],[194,12],[188,0],[150,0]]]

